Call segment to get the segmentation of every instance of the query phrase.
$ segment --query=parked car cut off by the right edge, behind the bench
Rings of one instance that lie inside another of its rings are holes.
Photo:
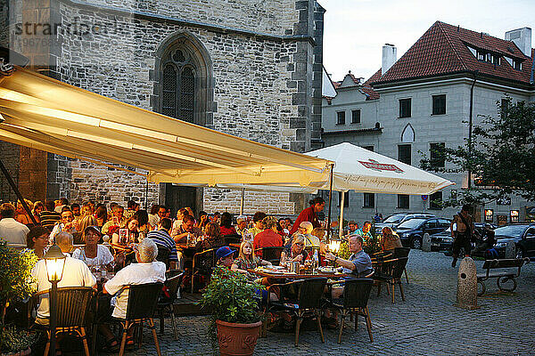
[[[500,257],[506,256],[507,242],[514,241],[516,258],[535,257],[535,223],[512,223],[494,231],[494,248]]]

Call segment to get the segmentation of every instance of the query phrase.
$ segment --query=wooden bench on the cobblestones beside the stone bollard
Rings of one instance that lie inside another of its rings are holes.
[[[496,284],[498,285],[499,290],[505,290],[507,292],[512,292],[516,289],[516,277],[520,276],[520,270],[524,263],[529,263],[529,258],[513,258],[513,259],[504,259],[504,260],[487,260],[483,264],[483,269],[487,270],[486,273],[477,274],[477,282],[481,285],[481,292],[478,292],[477,295],[484,295],[486,291],[485,280],[487,279],[496,279]],[[512,270],[516,268],[517,270]],[[499,271],[490,271],[490,270],[499,270]],[[513,282],[513,286],[507,287],[505,284],[508,281]]]

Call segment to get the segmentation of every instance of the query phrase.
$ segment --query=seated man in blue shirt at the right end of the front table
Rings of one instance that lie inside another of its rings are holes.
[[[350,236],[350,251],[353,253],[350,255],[349,260],[344,260],[333,255],[330,252],[325,254],[325,258],[328,261],[338,263],[343,267],[342,272],[354,275],[358,278],[365,278],[370,276],[374,272],[372,267],[372,260],[370,256],[362,249],[363,241],[360,236]],[[333,298],[340,298],[343,292],[343,287],[333,287]]]

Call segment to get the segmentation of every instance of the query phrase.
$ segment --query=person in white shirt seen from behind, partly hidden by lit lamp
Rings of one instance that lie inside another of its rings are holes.
[[[56,235],[55,239],[56,244],[62,249],[62,253],[66,255],[63,276],[62,280],[58,283],[58,287],[94,287],[96,289],[95,276],[91,274],[86,263],[72,258],[69,255],[69,252],[72,250],[72,235],[68,232],[60,232]],[[37,292],[48,290],[52,287],[46,275],[45,260],[37,262],[32,275],[37,279]],[[39,308],[37,309],[36,323],[48,325],[49,317],[48,294],[41,295]]]

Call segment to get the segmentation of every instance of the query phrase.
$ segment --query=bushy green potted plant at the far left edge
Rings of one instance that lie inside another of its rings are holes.
[[[32,294],[31,270],[36,263],[37,255],[33,252],[19,251],[0,241],[0,352],[3,355],[29,354],[29,347],[36,340],[32,333],[5,325],[9,303]]]

